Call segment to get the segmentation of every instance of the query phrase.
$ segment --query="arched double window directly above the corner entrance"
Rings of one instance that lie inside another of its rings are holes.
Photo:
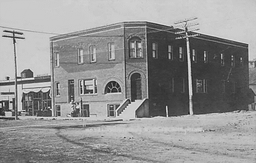
[[[129,57],[141,58],[142,57],[142,41],[140,39],[131,39],[129,42]]]

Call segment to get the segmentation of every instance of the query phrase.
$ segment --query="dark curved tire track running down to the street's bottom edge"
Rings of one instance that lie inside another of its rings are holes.
[[[85,147],[88,148],[89,150],[93,151],[93,152],[98,152],[98,153],[104,153],[104,154],[112,154],[112,155],[116,155],[116,156],[121,156],[124,158],[128,158],[131,160],[137,160],[137,161],[146,161],[146,162],[154,162],[154,163],[168,163],[168,162],[163,162],[163,161],[157,161],[157,160],[152,160],[152,159],[146,159],[146,158],[142,158],[139,156],[132,156],[132,155],[127,155],[127,154],[117,154],[115,152],[112,152],[111,150],[106,150],[106,149],[95,149],[92,148],[90,145],[86,145],[85,143],[79,143],[76,141],[72,141],[71,139],[65,137],[64,135],[61,135],[61,130],[63,129],[63,127],[54,127],[54,129],[57,130],[56,135],[58,137],[60,137],[61,139],[63,139],[64,141],[68,142],[68,143],[72,143],[75,145],[78,145],[80,147]],[[88,143],[90,144],[90,143]]]

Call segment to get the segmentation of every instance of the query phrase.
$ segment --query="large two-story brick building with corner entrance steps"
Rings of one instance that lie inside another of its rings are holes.
[[[51,37],[54,116],[71,112],[72,98],[84,117],[188,114],[187,47],[174,32],[121,22]],[[247,109],[248,44],[200,34],[190,51],[194,114]]]

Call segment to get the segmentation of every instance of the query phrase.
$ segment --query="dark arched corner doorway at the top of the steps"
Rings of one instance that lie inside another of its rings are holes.
[[[134,73],[131,76],[131,101],[142,100],[141,74]]]

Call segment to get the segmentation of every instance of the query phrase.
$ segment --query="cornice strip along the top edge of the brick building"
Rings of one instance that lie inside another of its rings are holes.
[[[125,25],[129,25],[129,24],[141,24],[141,25],[144,24],[145,27],[148,27],[147,25],[154,25],[154,26],[159,26],[159,27],[173,28],[173,26],[161,25],[161,24],[156,24],[154,22],[148,22],[148,21],[124,21],[124,22],[118,22],[118,23],[110,24],[110,25],[106,25],[106,26],[100,26],[100,27],[90,28],[90,29],[86,29],[86,30],[81,30],[81,31],[77,31],[77,32],[60,34],[58,36],[50,37],[50,40],[55,39],[55,41],[56,41],[56,40],[59,40],[58,38],[62,39],[62,37],[65,37],[67,35],[71,35],[70,37],[74,37],[75,34],[79,34],[79,33],[83,33],[83,32],[90,32],[90,31],[100,30],[100,29],[103,29],[103,28],[108,28],[108,27],[113,27],[113,26],[118,26],[118,25],[125,26]],[[95,32],[92,32],[92,33],[95,33]],[[92,34],[92,33],[90,33],[90,34]],[[196,32],[192,32],[192,33],[196,33]],[[198,34],[200,34],[201,37],[208,37],[208,38],[212,38],[212,39],[217,39],[220,42],[229,42],[231,44],[241,44],[242,46],[246,46],[248,48],[247,43],[241,43],[241,42],[237,42],[237,41],[234,41],[234,40],[224,39],[224,38],[210,36],[210,35],[201,34],[201,33],[198,33]],[[199,38],[200,38],[200,36],[199,36]],[[68,37],[66,39],[68,39]]]

